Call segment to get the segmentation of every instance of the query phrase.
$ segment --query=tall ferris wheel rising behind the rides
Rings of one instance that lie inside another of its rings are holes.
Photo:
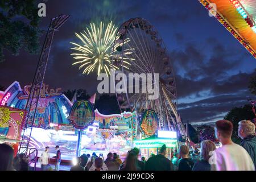
[[[129,63],[129,67],[124,66],[124,63]],[[127,80],[133,79],[129,78],[129,73],[138,73],[141,79],[143,73],[147,79],[151,74],[147,84],[142,81],[137,83],[140,88],[148,88],[148,84],[152,88],[157,85],[159,90],[159,97],[154,100],[150,99],[148,92],[115,92],[121,111],[135,110],[139,114],[152,109],[158,115],[159,130],[179,130],[185,135],[184,126],[177,114],[176,82],[170,56],[158,32],[147,20],[133,18],[122,23],[115,37],[112,64],[120,68],[115,74],[124,73]],[[159,79],[156,79],[155,73],[158,73]],[[125,89],[135,90],[135,86],[138,85],[126,84]]]

